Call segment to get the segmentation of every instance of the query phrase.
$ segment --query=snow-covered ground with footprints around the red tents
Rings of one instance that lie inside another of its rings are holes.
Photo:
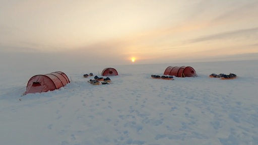
[[[199,77],[151,79],[169,65],[192,66]],[[0,144],[258,144],[258,60],[35,67],[1,70]],[[110,85],[83,78],[106,67],[119,73]],[[21,96],[32,76],[53,71],[72,82]]]

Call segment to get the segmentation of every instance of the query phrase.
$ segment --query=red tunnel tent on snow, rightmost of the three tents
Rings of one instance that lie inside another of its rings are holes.
[[[175,76],[175,77],[197,77],[196,70],[191,66],[168,66],[164,75]]]

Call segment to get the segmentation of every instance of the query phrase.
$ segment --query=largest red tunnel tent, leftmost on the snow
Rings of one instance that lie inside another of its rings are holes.
[[[55,71],[50,74],[36,75],[30,78],[25,94],[53,91],[70,83],[66,74]]]

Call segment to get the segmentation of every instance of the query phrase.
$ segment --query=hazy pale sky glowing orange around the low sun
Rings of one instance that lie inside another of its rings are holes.
[[[0,0],[0,52],[96,64],[258,59],[258,0]]]

